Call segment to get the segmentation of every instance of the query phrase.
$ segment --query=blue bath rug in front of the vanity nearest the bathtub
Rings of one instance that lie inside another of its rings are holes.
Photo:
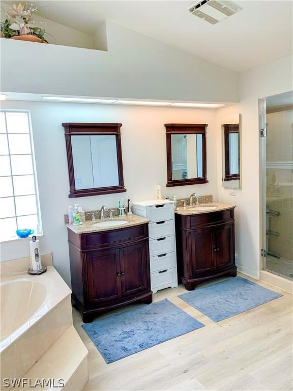
[[[83,324],[106,362],[113,362],[182,336],[204,324],[165,299]]]

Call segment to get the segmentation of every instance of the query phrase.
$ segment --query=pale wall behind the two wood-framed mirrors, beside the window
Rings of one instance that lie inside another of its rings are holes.
[[[78,202],[85,211],[103,204],[118,206],[120,197],[132,201],[154,199],[156,184],[161,182],[163,197],[172,191],[178,198],[192,192],[213,194],[217,198],[216,110],[133,107],[77,103],[6,101],[7,109],[31,110],[36,166],[39,182],[44,237],[41,253],[52,252],[57,270],[70,284],[67,230],[64,214]],[[123,171],[127,192],[69,199],[66,146],[62,122],[121,122]],[[165,123],[207,123],[208,184],[166,188]],[[27,241],[13,241],[1,246],[2,261],[28,256]]]

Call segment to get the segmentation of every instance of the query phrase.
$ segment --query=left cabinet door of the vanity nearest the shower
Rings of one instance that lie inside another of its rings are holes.
[[[216,268],[213,252],[213,232],[211,229],[190,232],[191,240],[191,275],[189,278],[204,274]]]

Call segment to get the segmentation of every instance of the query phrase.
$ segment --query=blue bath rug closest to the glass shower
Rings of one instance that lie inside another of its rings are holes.
[[[219,322],[281,296],[246,278],[233,277],[179,297],[213,321]]]

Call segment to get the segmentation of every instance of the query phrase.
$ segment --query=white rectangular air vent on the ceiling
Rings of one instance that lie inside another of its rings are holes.
[[[241,11],[242,8],[225,0],[202,0],[189,6],[188,10],[200,19],[216,24]]]

